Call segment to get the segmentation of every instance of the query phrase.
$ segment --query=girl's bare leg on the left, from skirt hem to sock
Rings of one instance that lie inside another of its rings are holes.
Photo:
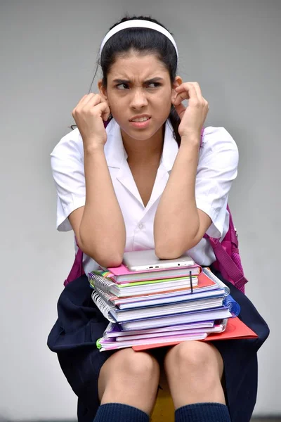
[[[101,404],[120,403],[150,414],[157,396],[159,364],[150,354],[122,349],[100,369],[98,395]]]

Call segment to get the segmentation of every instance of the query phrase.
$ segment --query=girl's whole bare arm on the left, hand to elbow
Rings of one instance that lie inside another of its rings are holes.
[[[103,267],[122,262],[126,229],[105,160],[107,140],[103,118],[110,109],[97,94],[89,94],[72,111],[84,145],[86,202],[69,216],[81,250]]]

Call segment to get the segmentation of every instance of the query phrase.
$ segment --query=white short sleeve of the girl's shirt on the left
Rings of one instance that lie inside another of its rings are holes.
[[[78,129],[65,135],[51,153],[51,169],[57,190],[57,229],[72,230],[68,216],[85,205],[83,143]]]

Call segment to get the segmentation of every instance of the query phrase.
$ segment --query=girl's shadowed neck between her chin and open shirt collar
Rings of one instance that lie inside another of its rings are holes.
[[[139,141],[133,139],[121,129],[122,139],[128,160],[138,160],[138,162],[148,162],[155,160],[162,155],[163,141],[164,141],[164,125],[149,139]]]

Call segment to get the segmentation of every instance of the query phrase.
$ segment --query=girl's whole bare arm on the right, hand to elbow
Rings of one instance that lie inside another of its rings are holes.
[[[195,201],[200,132],[208,103],[197,82],[181,84],[175,91],[174,106],[181,117],[181,146],[154,222],[155,252],[162,259],[178,257],[197,245],[211,225],[210,217],[197,209]],[[185,99],[189,100],[188,108],[183,106]]]

